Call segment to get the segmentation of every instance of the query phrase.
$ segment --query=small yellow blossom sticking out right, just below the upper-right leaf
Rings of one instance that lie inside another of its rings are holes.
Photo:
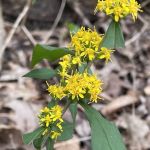
[[[108,63],[108,61],[111,60],[111,53],[113,53],[113,52],[114,52],[114,50],[102,47],[101,51],[99,52],[99,58],[105,59],[106,63]]]

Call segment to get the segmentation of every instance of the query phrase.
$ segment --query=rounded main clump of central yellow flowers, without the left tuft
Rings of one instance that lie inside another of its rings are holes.
[[[66,92],[71,95],[72,100],[85,98],[85,94],[90,95],[91,102],[97,102],[99,94],[102,92],[102,81],[96,79],[95,75],[88,73],[75,73],[66,80]]]

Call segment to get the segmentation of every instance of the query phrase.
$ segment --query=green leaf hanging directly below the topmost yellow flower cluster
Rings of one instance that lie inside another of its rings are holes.
[[[124,37],[119,22],[112,20],[100,46],[111,49],[125,47]]]

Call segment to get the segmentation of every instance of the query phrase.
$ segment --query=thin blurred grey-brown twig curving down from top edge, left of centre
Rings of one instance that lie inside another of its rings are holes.
[[[52,28],[49,31],[49,33],[46,35],[45,40],[42,42],[43,44],[47,43],[49,38],[52,36],[55,28],[57,27],[57,25],[58,25],[58,23],[59,23],[59,21],[61,19],[61,16],[62,16],[64,8],[65,8],[65,5],[66,5],[66,0],[62,0],[61,6],[60,6],[59,12],[57,14],[57,17],[56,17],[56,19],[54,21],[54,24],[52,25]]]

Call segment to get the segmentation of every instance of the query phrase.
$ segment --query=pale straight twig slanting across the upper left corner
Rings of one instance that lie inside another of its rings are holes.
[[[13,25],[13,27],[12,27],[10,33],[9,33],[9,35],[8,35],[7,38],[6,38],[6,41],[5,41],[4,45],[3,45],[2,48],[1,48],[1,53],[2,53],[2,55],[4,54],[4,51],[5,51],[5,49],[7,48],[8,44],[10,43],[10,41],[11,41],[13,35],[15,34],[15,32],[16,32],[16,30],[17,30],[19,24],[20,24],[20,22],[22,21],[22,19],[23,19],[23,18],[25,17],[25,15],[27,14],[29,8],[30,8],[30,7],[29,7],[29,5],[27,4],[27,5],[23,8],[21,14],[20,14],[20,15],[18,16],[18,18],[16,19],[16,21],[15,21],[15,23],[14,23],[14,25]],[[2,59],[1,59],[0,61],[2,61]],[[0,70],[1,70],[1,67],[2,67],[2,65],[1,65],[1,62],[0,62]]]

